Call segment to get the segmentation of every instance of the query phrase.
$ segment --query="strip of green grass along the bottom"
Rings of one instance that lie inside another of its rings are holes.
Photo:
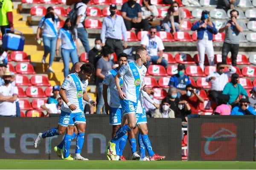
[[[256,169],[245,161],[64,161],[0,159],[0,169]]]

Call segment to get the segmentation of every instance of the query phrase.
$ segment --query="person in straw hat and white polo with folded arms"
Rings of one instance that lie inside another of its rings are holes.
[[[0,116],[15,117],[18,88],[11,85],[11,79],[15,76],[6,70],[0,77],[4,80],[4,84],[0,85]]]

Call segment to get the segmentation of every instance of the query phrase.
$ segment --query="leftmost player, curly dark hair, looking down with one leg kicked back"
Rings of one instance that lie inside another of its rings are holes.
[[[81,71],[78,73],[69,74],[61,85],[60,96],[64,103],[61,106],[61,115],[58,122],[57,128],[52,128],[44,133],[38,133],[38,137],[35,139],[35,148],[41,142],[41,139],[46,137],[61,135],[67,129],[70,119],[73,119],[74,124],[77,127],[78,134],[76,137],[76,160],[88,160],[83,158],[80,153],[84,143],[84,133],[85,133],[85,116],[82,107],[82,99],[89,102],[91,105],[95,106],[96,101],[91,100],[86,95],[86,88],[88,85],[88,79],[95,73],[95,69],[92,64],[86,63],[81,66]],[[64,138],[64,148],[69,148],[71,144],[70,135],[65,135]],[[64,159],[73,160],[71,155],[64,155]]]

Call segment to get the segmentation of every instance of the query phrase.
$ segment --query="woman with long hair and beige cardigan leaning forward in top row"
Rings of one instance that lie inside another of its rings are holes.
[[[170,28],[172,28],[172,34],[175,34],[176,31],[181,31],[183,21],[183,8],[180,8],[177,1],[174,1],[172,6],[168,9],[166,17],[163,19],[162,27],[164,31],[167,32],[171,32]]]

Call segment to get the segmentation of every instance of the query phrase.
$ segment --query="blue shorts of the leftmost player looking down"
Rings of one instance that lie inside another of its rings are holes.
[[[70,122],[70,120],[72,120],[72,122]],[[86,123],[84,112],[68,113],[61,111],[58,124],[61,126],[68,126],[70,123],[73,123],[75,125],[78,123]]]

